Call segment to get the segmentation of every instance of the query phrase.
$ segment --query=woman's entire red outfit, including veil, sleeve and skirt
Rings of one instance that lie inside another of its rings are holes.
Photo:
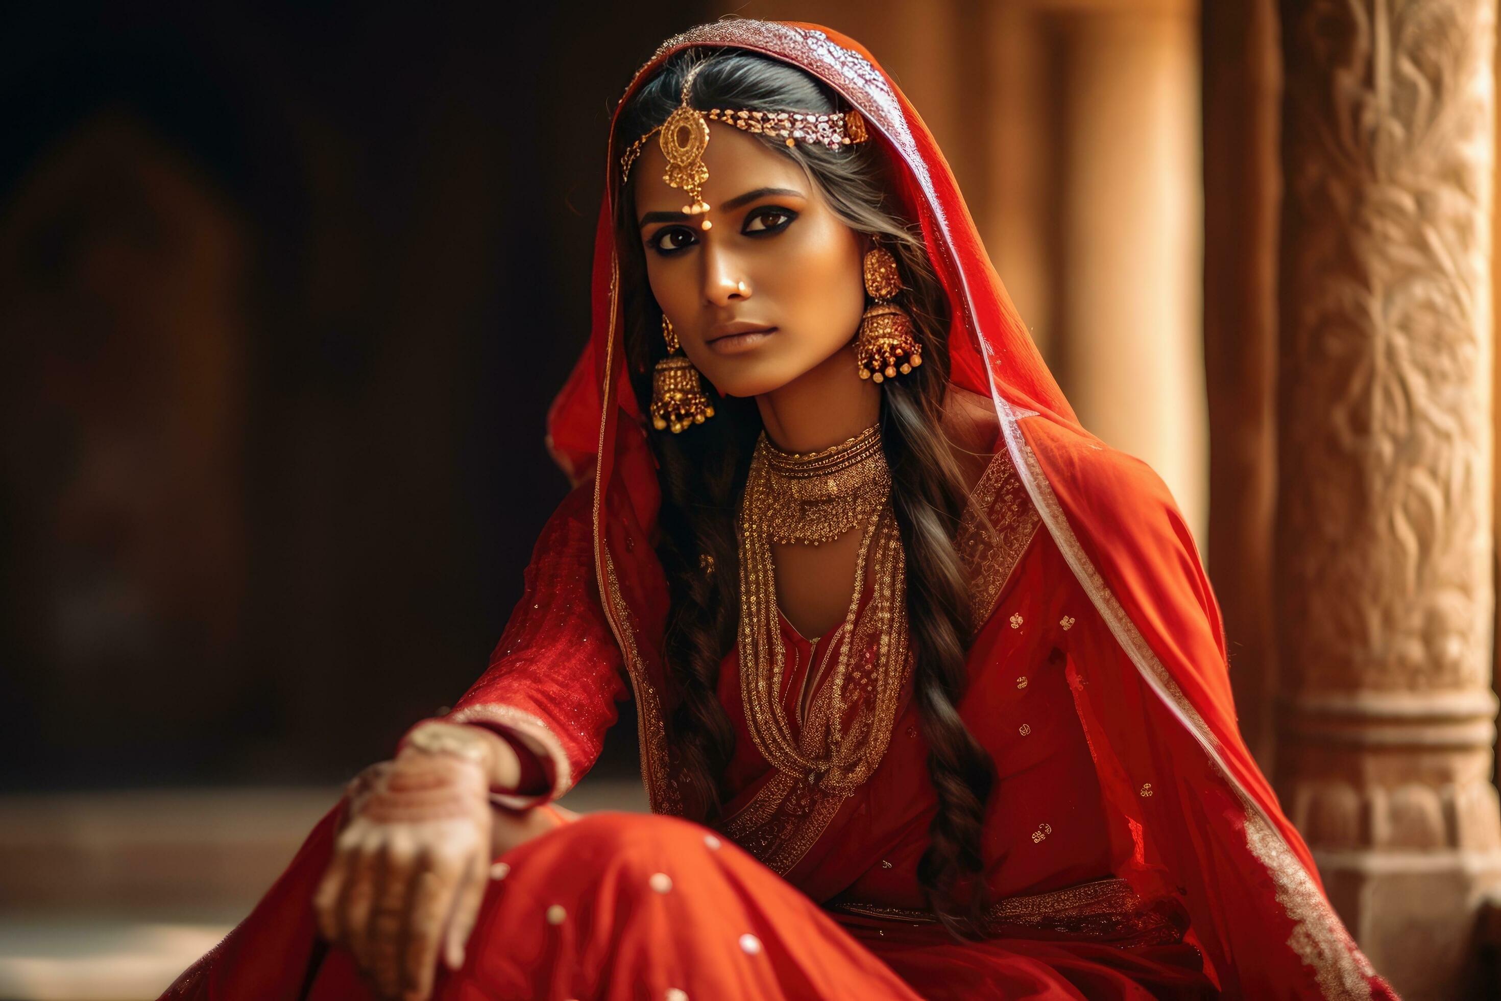
[[[959,539],[985,612],[959,708],[1000,774],[985,825],[994,935],[953,942],[920,909],[934,794],[910,704],[877,771],[838,803],[779,798],[735,719],[717,831],[600,813],[512,849],[468,963],[440,977],[438,996],[1394,996],[1240,738],[1219,608],[1171,495],[1079,426],[916,111],[859,44],[763,21],[669,39],[627,95],[686,45],[796,63],[862,111],[902,167],[899,195],[949,290],[953,398],[994,408],[995,456]],[[593,332],[549,413],[549,447],[578,486],[452,717],[530,749],[534,794],[497,798],[542,803],[593,765],[629,683],[653,813],[674,815],[659,498],[623,371],[617,185],[608,164]],[[817,663],[845,639],[815,647],[784,621],[790,716],[809,677],[818,696]],[[732,716],[737,686],[731,654],[720,696]],[[366,996],[338,950],[308,963],[309,897],[339,809],[165,996]]]

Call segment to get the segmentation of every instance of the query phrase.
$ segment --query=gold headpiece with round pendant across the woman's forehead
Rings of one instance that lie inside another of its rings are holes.
[[[802,140],[805,143],[818,143],[835,152],[871,138],[869,131],[865,128],[865,119],[854,110],[818,113],[710,108],[708,111],[699,111],[687,102],[687,98],[693,89],[693,78],[702,68],[704,63],[698,63],[687,71],[687,77],[683,78],[683,92],[678,96],[677,110],[668,116],[666,122],[626,147],[624,156],[620,158],[620,179],[624,183],[630,180],[630,165],[641,156],[645,141],[657,135],[662,155],[666,158],[666,173],[662,174],[662,180],[671,188],[680,188],[692,200],[683,206],[683,215],[686,216],[701,216],[710,209],[710,204],[702,198],[704,183],[708,180],[708,167],[704,165],[704,150],[708,149],[710,122],[732,125],[741,132],[779,137],[788,146],[797,146],[797,141]],[[713,224],[704,219],[699,227],[710,230]]]

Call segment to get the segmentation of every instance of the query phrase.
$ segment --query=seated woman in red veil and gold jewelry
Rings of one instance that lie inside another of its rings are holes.
[[[576,486],[489,669],[167,996],[1393,996],[1166,488],[1079,426],[865,50],[669,39],[596,248]],[[653,815],[551,807],[627,681]]]

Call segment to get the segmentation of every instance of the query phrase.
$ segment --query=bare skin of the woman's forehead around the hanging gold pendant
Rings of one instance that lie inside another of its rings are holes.
[[[704,167],[708,168],[708,180],[704,182],[702,194],[704,201],[711,206],[755,188],[809,189],[802,165],[791,156],[778,153],[764,140],[717,122],[708,123]],[[669,188],[662,180],[663,173],[666,173],[666,156],[662,155],[657,137],[653,135],[630,168],[638,213],[678,212],[687,201],[681,188]]]

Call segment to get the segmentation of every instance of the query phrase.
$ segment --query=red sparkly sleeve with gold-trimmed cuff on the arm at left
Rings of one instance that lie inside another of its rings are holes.
[[[599,759],[615,702],[629,696],[596,584],[593,495],[593,483],[576,486],[543,525],[489,668],[441,717],[488,726],[516,747],[521,782],[491,794],[501,806],[570,789]]]

